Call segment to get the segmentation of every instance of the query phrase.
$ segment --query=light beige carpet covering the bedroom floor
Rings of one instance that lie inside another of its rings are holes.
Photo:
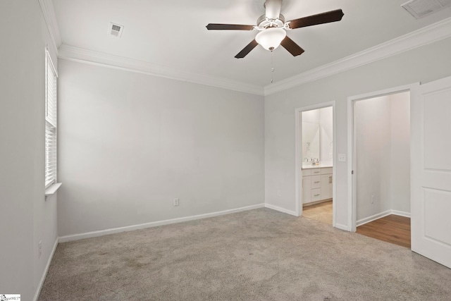
[[[450,300],[451,269],[271,209],[58,245],[39,300]]]

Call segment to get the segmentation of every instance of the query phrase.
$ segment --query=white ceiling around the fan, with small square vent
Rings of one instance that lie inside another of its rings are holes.
[[[183,73],[264,87],[274,81],[337,61],[451,16],[451,8],[419,20],[400,5],[407,0],[283,0],[286,20],[342,8],[340,22],[288,32],[305,52],[293,57],[279,47],[258,46],[244,59],[234,56],[254,31],[206,30],[208,23],[256,25],[264,0],[53,0],[61,42],[122,56]],[[109,23],[124,25],[121,38]]]

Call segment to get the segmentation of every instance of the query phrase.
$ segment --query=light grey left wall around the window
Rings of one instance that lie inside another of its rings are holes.
[[[0,1],[0,22],[0,293],[32,300],[57,238],[56,195],[44,201],[45,47],[51,43],[38,1]]]

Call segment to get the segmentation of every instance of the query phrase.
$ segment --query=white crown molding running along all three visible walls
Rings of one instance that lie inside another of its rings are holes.
[[[59,37],[58,25],[56,23],[54,8],[51,0],[39,0],[39,4],[41,4],[42,13],[46,20],[47,26],[49,27],[49,32],[52,42],[54,42],[54,46],[61,45],[59,48],[56,48],[58,49],[59,59],[128,70],[135,73],[143,73],[162,78],[169,78],[172,80],[194,82],[200,85],[219,87],[226,90],[234,90],[260,96],[271,95],[288,90],[299,85],[304,85],[308,82],[326,78],[328,76],[364,66],[366,64],[373,63],[426,44],[437,42],[440,39],[451,37],[451,18],[447,18],[438,23],[433,23],[432,25],[428,25],[414,32],[410,32],[407,35],[397,37],[375,47],[360,51],[357,54],[352,54],[351,56],[328,63],[319,68],[314,68],[307,72],[292,76],[291,78],[280,80],[279,82],[275,82],[271,85],[261,87],[259,85],[251,85],[226,78],[185,73],[145,61],[128,59],[122,56],[114,56],[112,54],[105,54],[98,51],[61,44],[61,38]]]

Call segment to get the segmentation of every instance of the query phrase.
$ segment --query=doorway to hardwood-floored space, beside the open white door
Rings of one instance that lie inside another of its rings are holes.
[[[405,247],[410,247],[410,87],[348,102],[352,231]]]

